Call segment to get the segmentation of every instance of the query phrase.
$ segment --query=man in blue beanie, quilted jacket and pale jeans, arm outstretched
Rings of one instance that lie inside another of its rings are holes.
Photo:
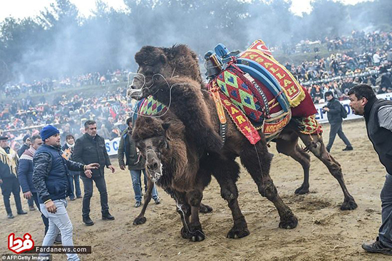
[[[51,125],[42,128],[41,137],[44,144],[36,150],[33,158],[33,185],[38,193],[41,213],[49,220],[48,232],[43,238],[42,245],[53,245],[58,232],[61,232],[63,245],[72,247],[73,227],[66,210],[66,197],[71,191],[68,170],[88,171],[98,168],[98,164],[83,165],[63,158],[60,132]],[[49,254],[42,256],[46,255]],[[76,254],[66,255],[68,260],[80,260]]]

